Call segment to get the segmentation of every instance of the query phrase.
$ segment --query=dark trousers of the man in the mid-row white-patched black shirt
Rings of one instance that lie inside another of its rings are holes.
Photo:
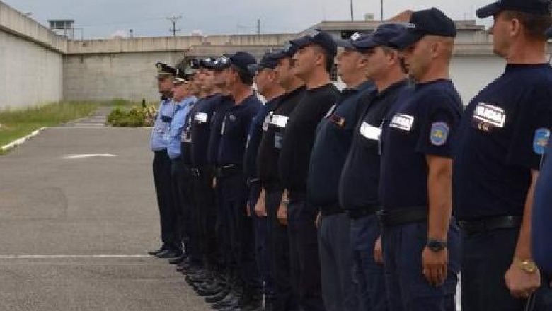
[[[272,248],[272,271],[274,280],[274,311],[297,309],[297,293],[293,291],[289,278],[289,238],[287,227],[278,221],[277,213],[282,201],[282,190],[267,191],[265,206],[267,212],[267,240]]]

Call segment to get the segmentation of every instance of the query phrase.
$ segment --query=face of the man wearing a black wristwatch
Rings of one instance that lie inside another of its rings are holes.
[[[418,81],[429,69],[432,62],[432,42],[427,37],[407,47],[403,52],[408,75]]]

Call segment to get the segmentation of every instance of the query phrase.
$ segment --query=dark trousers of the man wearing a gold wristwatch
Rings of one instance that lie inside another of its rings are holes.
[[[462,310],[524,311],[527,299],[510,295],[504,276],[514,258],[519,228],[462,232]],[[544,283],[535,295],[534,311],[552,310],[552,295]]]

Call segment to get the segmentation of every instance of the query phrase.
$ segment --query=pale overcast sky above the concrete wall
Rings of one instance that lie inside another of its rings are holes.
[[[202,30],[205,34],[298,32],[321,20],[349,20],[350,0],[1,0],[35,20],[73,19],[84,28],[84,37],[108,37],[134,30],[136,36],[171,35],[166,17],[182,15],[180,34]],[[379,18],[379,0],[353,0],[355,19],[364,13]],[[454,19],[473,19],[479,6],[490,0],[384,0],[384,18],[407,8],[435,6]],[[478,20],[488,24],[488,21]],[[80,33],[76,33],[80,36]]]

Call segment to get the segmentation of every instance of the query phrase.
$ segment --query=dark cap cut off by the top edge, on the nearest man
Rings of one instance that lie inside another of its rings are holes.
[[[499,0],[488,6],[477,10],[478,18],[495,16],[496,14],[509,10],[536,15],[550,15],[552,13],[552,2],[550,0]]]

